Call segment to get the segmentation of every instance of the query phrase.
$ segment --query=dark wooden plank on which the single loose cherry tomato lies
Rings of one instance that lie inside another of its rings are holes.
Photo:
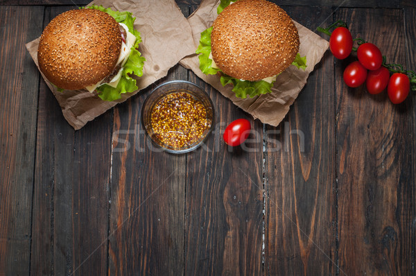
[[[259,275],[263,227],[262,124],[190,73],[211,96],[216,129],[187,160],[185,275]],[[229,148],[231,121],[251,121],[252,135]]]

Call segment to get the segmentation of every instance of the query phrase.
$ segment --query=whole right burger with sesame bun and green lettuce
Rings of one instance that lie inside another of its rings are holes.
[[[235,2],[235,3],[234,3]],[[201,33],[200,69],[219,74],[239,98],[271,92],[277,75],[291,64],[306,68],[291,17],[266,0],[221,0],[213,26]]]

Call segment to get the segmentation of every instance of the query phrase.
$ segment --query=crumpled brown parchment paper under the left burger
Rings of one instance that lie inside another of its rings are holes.
[[[125,101],[141,89],[166,76],[171,67],[175,66],[184,56],[195,53],[198,46],[194,44],[191,37],[191,26],[177,7],[175,0],[97,0],[92,3],[112,8],[112,10],[132,12],[136,17],[135,29],[141,33],[143,40],[139,45],[139,51],[146,58],[146,62],[143,76],[137,78],[137,91],[123,94],[120,100],[114,102],[102,101],[96,94],[91,94],[87,90],[58,92],[45,79],[46,84],[58,100],[65,119],[76,130],[117,103]],[[26,49],[36,65],[38,46],[39,38],[26,44]],[[43,75],[42,77],[44,78]]]

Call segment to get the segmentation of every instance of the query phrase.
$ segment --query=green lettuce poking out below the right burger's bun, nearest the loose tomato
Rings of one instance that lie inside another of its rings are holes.
[[[239,80],[238,78],[233,78],[227,75],[221,76],[220,82],[223,86],[232,83],[234,88],[232,91],[236,94],[239,98],[253,98],[254,96],[259,96],[261,94],[268,94],[272,92],[273,84],[268,83],[264,80],[257,80],[257,81],[250,81],[250,80]]]

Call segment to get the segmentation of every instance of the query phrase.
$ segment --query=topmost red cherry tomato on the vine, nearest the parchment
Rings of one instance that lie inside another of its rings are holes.
[[[352,35],[345,27],[338,27],[333,30],[329,37],[329,49],[334,57],[343,60],[352,51]]]

